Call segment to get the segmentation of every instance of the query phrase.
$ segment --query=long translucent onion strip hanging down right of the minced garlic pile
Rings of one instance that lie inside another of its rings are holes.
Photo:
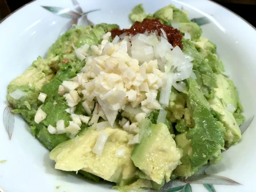
[[[169,106],[170,94],[172,91],[172,74],[166,77],[166,86],[162,87],[159,103],[165,107]]]

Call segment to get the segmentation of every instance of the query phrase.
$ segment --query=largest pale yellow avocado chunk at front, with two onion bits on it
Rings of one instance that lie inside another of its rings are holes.
[[[90,128],[51,151],[50,158],[56,161],[55,169],[83,170],[112,182],[133,177],[136,171],[130,158],[133,146],[127,143],[134,135],[118,127],[108,127],[102,132],[108,133],[108,140],[101,156],[92,152],[100,131]],[[115,157],[116,149],[125,149],[125,156]]]

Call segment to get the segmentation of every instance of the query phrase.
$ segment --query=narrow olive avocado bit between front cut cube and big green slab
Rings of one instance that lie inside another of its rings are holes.
[[[175,137],[177,147],[182,149],[183,156],[180,159],[182,164],[174,169],[173,174],[180,177],[189,177],[194,174],[194,170],[188,158],[188,156],[192,154],[192,142],[191,140],[187,140],[186,135],[187,132],[183,132]]]

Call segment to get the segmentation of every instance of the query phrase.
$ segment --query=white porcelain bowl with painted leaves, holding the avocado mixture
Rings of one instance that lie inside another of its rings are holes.
[[[88,18],[95,24],[116,23],[121,28],[131,24],[128,14],[132,8],[142,3],[146,12],[153,13],[170,3],[189,11],[189,18],[206,17],[211,22],[202,27],[203,35],[217,44],[217,52],[222,59],[227,74],[238,88],[244,106],[246,121],[241,126],[244,130],[255,114],[255,50],[256,30],[243,19],[224,7],[207,0],[79,0],[83,11],[101,9]],[[6,86],[25,71],[38,55],[44,56],[47,49],[58,38],[60,30],[69,19],[46,11],[40,5],[72,8],[71,0],[36,0],[5,18],[0,24],[0,115],[3,116],[6,102]],[[251,192],[254,188],[256,173],[256,121],[252,121],[244,132],[241,142],[223,153],[223,160],[207,168],[207,174],[228,177],[242,185],[214,185],[216,192]],[[45,149],[28,131],[28,125],[15,116],[11,140],[3,123],[0,124],[0,186],[5,192],[84,192],[111,191],[106,184],[93,184],[74,174],[54,169],[54,162],[49,159]],[[3,163],[3,162],[2,162]],[[172,187],[180,185],[173,183]],[[184,185],[184,183],[183,183]],[[60,186],[56,189],[56,186]],[[206,192],[202,184],[190,184],[193,192]],[[0,191],[4,192],[0,188]],[[210,189],[209,189],[210,191]],[[212,190],[213,191],[213,190]]]

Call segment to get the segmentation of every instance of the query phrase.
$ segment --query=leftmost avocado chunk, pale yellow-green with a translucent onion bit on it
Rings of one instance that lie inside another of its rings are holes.
[[[22,75],[13,79],[7,87],[7,100],[13,108],[31,108],[37,102],[39,91],[43,84],[51,81],[54,75],[45,75],[41,70],[31,67],[28,68]],[[11,97],[11,93],[20,90],[26,95],[19,100]]]

